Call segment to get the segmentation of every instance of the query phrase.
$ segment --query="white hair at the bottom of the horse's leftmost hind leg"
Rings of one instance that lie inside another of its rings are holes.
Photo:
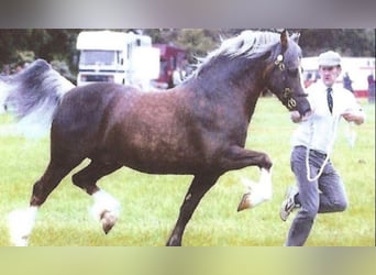
[[[29,237],[34,228],[37,209],[37,207],[30,207],[9,213],[8,228],[13,245],[27,246]]]

